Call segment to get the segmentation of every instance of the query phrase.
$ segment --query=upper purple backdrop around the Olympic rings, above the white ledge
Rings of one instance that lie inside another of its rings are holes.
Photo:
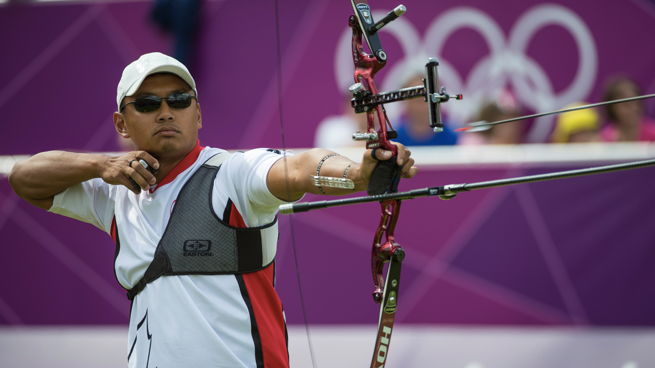
[[[500,35],[504,42],[514,34],[512,29],[518,21],[540,4],[460,1],[457,7],[487,14],[504,33]],[[639,80],[645,92],[655,92],[655,50],[643,43],[655,35],[655,5],[646,0],[561,4],[577,14],[597,50],[597,72],[592,75],[589,93],[580,99],[597,101],[603,82],[617,73]],[[374,9],[395,5],[394,1],[379,0]],[[427,42],[424,39],[428,36],[422,33],[428,25],[455,8],[450,2],[438,1],[405,5],[408,12],[400,19],[416,30],[419,43]],[[139,1],[1,7],[0,31],[6,36],[0,39],[0,50],[5,52],[0,61],[0,107],[5,128],[0,154],[117,150],[111,114],[116,109],[115,91],[122,69],[141,54],[172,50],[172,41],[150,24],[150,7],[151,3]],[[339,37],[347,30],[349,14],[348,1],[280,1],[287,146],[311,146],[318,122],[342,113],[345,89],[337,86],[335,54]],[[234,149],[282,146],[274,29],[272,1],[203,3],[196,61],[190,65],[198,80],[204,113],[203,144]],[[380,86],[394,65],[406,57],[401,46],[407,47],[409,42],[398,41],[384,29],[382,36],[389,62],[376,78]],[[447,37],[439,57],[468,80],[474,65],[489,50],[481,33],[462,27]],[[563,27],[545,25],[538,29],[526,54],[550,80],[555,97],[576,75],[580,50]],[[509,67],[509,60],[500,65]],[[512,68],[517,69],[515,65]],[[458,101],[466,104],[480,88],[457,90],[454,82],[446,83],[455,71],[448,73],[442,68],[441,78],[449,90],[468,93],[464,101]],[[529,73],[533,78],[538,74]],[[509,87],[514,88],[511,83]],[[517,97],[529,96],[517,93]],[[557,108],[569,102],[550,105]],[[449,106],[456,105],[445,109]],[[471,107],[468,112],[474,110]]]

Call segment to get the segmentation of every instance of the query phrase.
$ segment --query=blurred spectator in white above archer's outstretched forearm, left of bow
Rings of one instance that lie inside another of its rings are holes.
[[[350,106],[352,95],[348,93],[343,101],[343,114],[327,116],[314,133],[314,147],[363,147],[366,142],[353,141],[352,134],[356,131],[366,131],[366,114],[355,114]]]

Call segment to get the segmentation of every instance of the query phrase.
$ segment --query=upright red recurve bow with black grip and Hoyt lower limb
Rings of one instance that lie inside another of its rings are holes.
[[[350,90],[354,92],[355,98],[375,96],[378,95],[378,91],[373,77],[386,65],[386,53],[382,49],[377,30],[384,25],[384,22],[395,19],[394,16],[398,18],[404,12],[404,7],[401,5],[397,8],[402,10],[400,14],[396,15],[394,12],[390,12],[387,17],[383,18],[383,21],[386,21],[374,24],[371,10],[365,0],[358,0],[358,3],[355,3],[355,0],[350,0],[350,3],[355,13],[348,18],[348,25],[352,28],[352,61],[355,65],[355,84]],[[378,27],[376,28],[376,26]],[[362,37],[365,38],[373,54],[368,55],[364,52]],[[398,135],[389,122],[383,105],[374,105],[372,109],[364,109],[364,112],[367,118],[367,132],[364,135],[366,148],[373,148],[373,152],[377,148],[392,152],[391,158],[379,161],[373,170],[367,193],[375,195],[397,192],[402,166],[397,163],[398,150],[396,145],[390,142],[390,139],[394,139]],[[375,129],[376,123],[377,131]],[[356,138],[357,135],[354,135],[353,139]],[[396,303],[400,287],[400,266],[403,258],[405,258],[405,252],[394,238],[394,229],[400,214],[400,200],[381,201],[381,209],[380,224],[377,231],[375,231],[371,248],[371,272],[375,286],[373,300],[375,303],[381,304],[371,368],[383,367],[386,361],[394,327],[394,317],[396,316]],[[387,262],[389,262],[389,267],[386,278],[384,278],[383,267],[384,263]]]

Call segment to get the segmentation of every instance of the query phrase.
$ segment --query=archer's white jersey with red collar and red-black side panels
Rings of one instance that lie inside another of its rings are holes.
[[[239,152],[221,165],[212,206],[223,221],[255,227],[274,220],[285,202],[267,186],[269,169],[282,158],[272,151]],[[153,261],[182,186],[221,152],[198,142],[154,189],[140,195],[100,178],[77,184],[54,197],[50,212],[109,233],[117,243],[116,278],[129,290]],[[132,302],[128,367],[288,367],[274,267],[241,275],[161,276],[147,284]]]

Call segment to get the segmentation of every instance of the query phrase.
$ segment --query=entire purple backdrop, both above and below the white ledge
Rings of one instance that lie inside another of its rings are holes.
[[[464,1],[505,33],[533,1]],[[607,76],[626,73],[655,92],[651,3],[562,3],[578,14],[597,48],[588,95]],[[379,0],[374,8],[396,2]],[[405,3],[419,32],[453,5]],[[169,52],[147,20],[148,2],[0,7],[0,155],[44,150],[118,150],[111,113],[124,65]],[[347,1],[281,1],[286,146],[310,146],[314,128],[341,113],[335,45]],[[245,19],[244,19],[245,18]],[[610,26],[611,25],[611,26]],[[635,35],[637,37],[635,37]],[[272,1],[206,1],[196,61],[204,114],[200,139],[221,148],[280,147]],[[383,38],[393,67],[401,44]],[[443,56],[467,75],[489,52],[474,31],[459,30]],[[555,92],[576,74],[571,36],[557,26],[534,36],[528,54]],[[316,101],[320,99],[320,102]],[[556,169],[556,168],[555,168]],[[504,169],[424,170],[405,189],[535,173]],[[397,237],[407,250],[398,319],[449,324],[655,324],[655,196],[652,170],[530,184],[403,203]],[[635,184],[639,183],[639,184]],[[570,187],[569,187],[570,185]],[[295,216],[310,323],[374,323],[369,255],[377,205]],[[290,323],[301,323],[287,217],[280,218],[278,290]],[[337,231],[338,229],[338,231]],[[2,324],[124,324],[129,303],[113,278],[113,242],[98,229],[20,201],[0,180]]]

